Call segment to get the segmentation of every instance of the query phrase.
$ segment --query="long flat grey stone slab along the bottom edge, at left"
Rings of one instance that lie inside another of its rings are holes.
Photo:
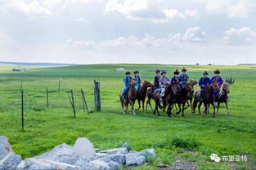
[[[79,170],[78,166],[47,159],[25,159],[24,170]]]

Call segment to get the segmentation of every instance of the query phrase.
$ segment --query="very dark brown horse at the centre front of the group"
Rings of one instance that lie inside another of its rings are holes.
[[[173,91],[173,104],[177,104],[178,106],[178,111],[176,114],[179,114],[182,111],[182,116],[184,117],[184,111],[185,109],[185,104],[187,102],[187,89],[186,88],[181,88],[181,85],[175,83],[172,85],[172,91]],[[182,106],[182,108],[181,108]]]

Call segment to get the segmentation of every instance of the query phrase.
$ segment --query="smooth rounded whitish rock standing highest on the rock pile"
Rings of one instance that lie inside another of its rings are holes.
[[[79,137],[74,144],[74,152],[80,157],[91,158],[96,154],[92,142],[86,137]]]

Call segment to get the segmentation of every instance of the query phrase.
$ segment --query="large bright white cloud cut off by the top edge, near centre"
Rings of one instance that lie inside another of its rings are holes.
[[[150,0],[109,0],[106,3],[105,14],[117,12],[124,15],[128,20],[149,21],[151,23],[168,23],[172,20],[184,20],[186,17],[199,19],[196,10],[186,10],[184,14],[177,9],[162,9],[158,7],[161,1],[152,2]]]

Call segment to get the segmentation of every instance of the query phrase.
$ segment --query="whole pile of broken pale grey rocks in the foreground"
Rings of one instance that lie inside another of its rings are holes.
[[[0,136],[0,170],[115,170],[121,164],[142,165],[152,157],[154,149],[137,152],[125,142],[119,148],[99,150],[87,138],[80,137],[74,146],[64,143],[43,155],[21,160],[11,150],[7,137]]]

